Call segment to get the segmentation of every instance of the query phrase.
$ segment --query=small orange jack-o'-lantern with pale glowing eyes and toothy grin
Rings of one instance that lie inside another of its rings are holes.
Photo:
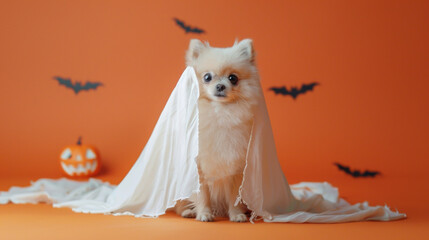
[[[91,145],[83,145],[81,138],[76,145],[65,147],[60,154],[61,169],[70,177],[89,177],[100,170],[100,155]]]

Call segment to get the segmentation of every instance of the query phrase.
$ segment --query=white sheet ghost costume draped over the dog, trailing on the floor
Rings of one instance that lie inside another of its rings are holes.
[[[260,87],[260,86],[259,86]],[[387,206],[349,204],[329,183],[289,185],[277,159],[273,132],[260,87],[237,203],[251,221],[338,223],[405,218]],[[186,68],[134,166],[118,186],[90,179],[40,179],[0,193],[0,203],[46,202],[76,212],[157,217],[199,191],[198,80]]]

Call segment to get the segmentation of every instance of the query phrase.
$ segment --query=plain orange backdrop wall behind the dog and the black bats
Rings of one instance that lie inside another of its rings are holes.
[[[428,12],[427,1],[1,1],[2,189],[61,177],[59,151],[78,136],[100,150],[99,177],[118,183],[189,40],[252,38],[289,182],[326,180],[352,201],[429,214],[413,208],[429,200]],[[185,34],[174,17],[206,33]],[[75,95],[53,76],[104,86]],[[314,81],[296,100],[268,90]],[[383,175],[352,179],[333,162]]]

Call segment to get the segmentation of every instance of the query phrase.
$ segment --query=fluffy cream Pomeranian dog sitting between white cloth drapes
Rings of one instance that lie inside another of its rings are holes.
[[[247,208],[235,205],[246,165],[253,123],[253,107],[259,98],[259,75],[252,40],[229,48],[214,48],[192,39],[186,53],[200,87],[199,154],[200,192],[175,207],[183,217],[213,221],[247,221]]]

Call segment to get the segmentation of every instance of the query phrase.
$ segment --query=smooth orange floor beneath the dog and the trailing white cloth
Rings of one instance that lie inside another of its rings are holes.
[[[0,190],[30,179],[1,179]],[[328,179],[350,202],[389,204],[408,215],[394,222],[342,224],[200,223],[168,213],[157,219],[74,213],[46,204],[0,205],[0,239],[428,239],[424,178]],[[114,181],[114,180],[112,180]],[[420,184],[419,184],[420,183]],[[365,186],[365,187],[362,187]]]

